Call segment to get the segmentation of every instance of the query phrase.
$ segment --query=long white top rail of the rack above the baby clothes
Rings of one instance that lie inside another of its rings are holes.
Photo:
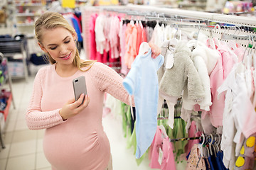
[[[139,6],[139,5],[127,5],[127,6],[99,6],[97,7],[103,11],[114,11],[119,13],[127,13],[128,15],[137,16],[176,16],[185,18],[194,18],[195,20],[207,20],[214,21],[218,23],[229,23],[240,26],[255,27],[256,19],[253,17],[245,16],[232,16],[225,15],[222,13],[208,13],[201,11],[188,11],[178,8],[166,8],[166,7],[156,7],[156,6]],[[152,12],[153,11],[153,12]]]

